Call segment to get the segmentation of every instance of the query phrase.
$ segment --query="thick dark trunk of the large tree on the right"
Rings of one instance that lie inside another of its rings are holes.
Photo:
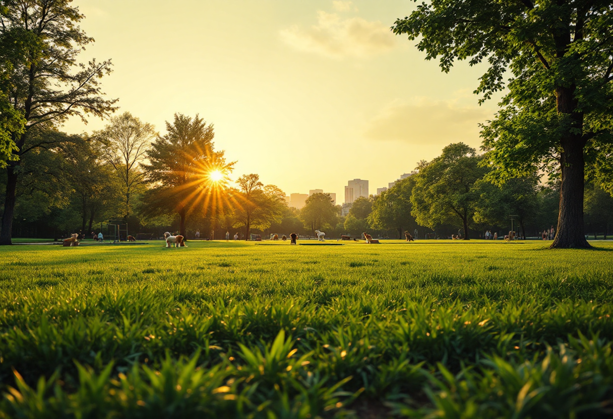
[[[571,139],[562,143],[562,185],[560,213],[554,243],[550,249],[589,248],[583,225],[584,167],[583,145]]]

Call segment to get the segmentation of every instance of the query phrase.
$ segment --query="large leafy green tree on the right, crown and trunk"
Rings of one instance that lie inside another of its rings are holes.
[[[557,165],[562,175],[557,235],[551,247],[589,247],[583,227],[585,149],[612,141],[613,13],[610,1],[437,0],[399,19],[397,34],[421,37],[444,72],[455,59],[489,63],[480,100],[505,88],[501,109],[482,130],[490,178]]]

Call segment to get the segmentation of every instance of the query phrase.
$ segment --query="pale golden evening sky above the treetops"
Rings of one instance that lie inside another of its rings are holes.
[[[389,30],[410,0],[75,0],[96,39],[83,60],[111,58],[109,97],[162,134],[175,112],[215,125],[216,149],[288,195],[349,179],[370,193],[443,146],[478,147],[482,68],[444,74],[416,41]],[[101,129],[69,121],[68,132]]]

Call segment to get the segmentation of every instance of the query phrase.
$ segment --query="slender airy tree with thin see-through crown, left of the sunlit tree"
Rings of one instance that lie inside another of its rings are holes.
[[[111,118],[109,125],[94,133],[103,145],[104,159],[115,168],[116,175],[121,179],[126,197],[123,203],[126,221],[132,210],[131,198],[145,189],[145,172],[140,164],[156,135],[151,124],[143,123],[129,112]]]

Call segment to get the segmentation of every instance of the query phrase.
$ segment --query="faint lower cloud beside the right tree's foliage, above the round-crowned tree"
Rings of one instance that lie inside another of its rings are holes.
[[[369,121],[364,135],[411,145],[474,144],[480,142],[478,124],[492,116],[484,108],[463,107],[454,101],[395,100]]]

